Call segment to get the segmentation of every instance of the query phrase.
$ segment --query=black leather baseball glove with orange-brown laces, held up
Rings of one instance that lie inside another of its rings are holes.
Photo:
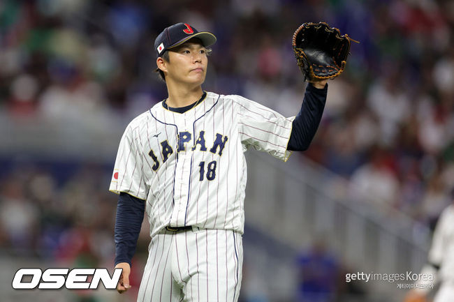
[[[305,80],[325,80],[344,71],[351,39],[325,22],[304,23],[293,33],[293,52]]]

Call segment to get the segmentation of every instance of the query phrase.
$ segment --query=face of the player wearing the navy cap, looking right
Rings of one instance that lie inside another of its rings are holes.
[[[196,42],[186,42],[169,52],[166,81],[201,85],[207,74],[207,50]]]

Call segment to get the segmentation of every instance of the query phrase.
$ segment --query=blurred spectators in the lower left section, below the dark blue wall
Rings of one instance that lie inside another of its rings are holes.
[[[100,165],[23,162],[0,175],[2,251],[111,266],[115,203]]]

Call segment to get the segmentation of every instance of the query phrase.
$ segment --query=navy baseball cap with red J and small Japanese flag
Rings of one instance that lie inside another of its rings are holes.
[[[198,31],[187,23],[177,23],[164,29],[154,40],[154,50],[156,56],[161,56],[163,52],[172,47],[178,46],[191,38],[202,40],[203,46],[208,47],[216,43],[214,34],[207,31]]]

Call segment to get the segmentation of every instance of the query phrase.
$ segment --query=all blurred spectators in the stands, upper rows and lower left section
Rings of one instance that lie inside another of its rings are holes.
[[[319,21],[360,44],[329,82],[305,156],[351,180],[352,197],[373,196],[433,225],[454,186],[450,0],[4,0],[0,108],[12,121],[41,116],[57,128],[136,116],[166,98],[154,72],[154,38],[186,22],[218,39],[205,90],[292,116],[304,84],[291,36],[302,22]],[[92,168],[66,181],[39,170],[1,174],[0,245],[34,246],[42,257],[94,248],[91,256],[112,259],[105,255],[115,211],[105,204],[110,172]]]

